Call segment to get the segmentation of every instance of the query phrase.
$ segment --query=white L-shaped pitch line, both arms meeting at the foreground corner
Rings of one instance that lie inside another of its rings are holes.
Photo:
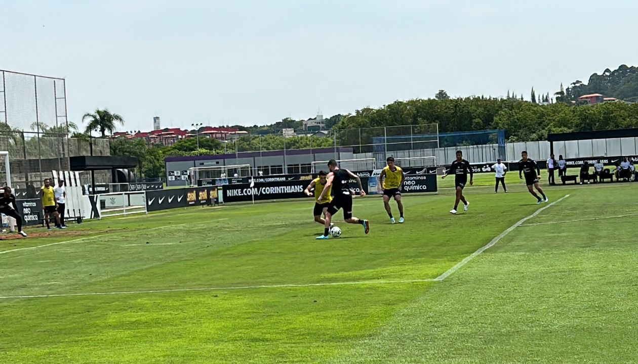
[[[353,285],[365,285],[365,284],[402,284],[402,283],[422,283],[422,282],[441,282],[442,280],[449,277],[452,273],[456,272],[461,266],[466,265],[468,261],[474,259],[480,253],[486,251],[490,247],[493,247],[494,244],[498,243],[501,238],[505,237],[512,230],[516,229],[518,226],[521,226],[523,222],[528,221],[532,217],[540,214],[545,208],[549,208],[555,203],[559,203],[565,198],[568,198],[570,195],[565,195],[560,199],[550,203],[549,205],[539,208],[533,214],[528,217],[524,217],[520,221],[516,222],[516,224],[510,226],[507,230],[503,231],[495,237],[484,247],[479,250],[473,252],[470,256],[463,259],[461,262],[457,263],[457,265],[453,266],[447,272],[439,275],[433,279],[403,279],[403,280],[355,280],[351,282],[330,282],[330,283],[308,283],[308,284],[265,284],[262,286],[234,286],[234,287],[208,287],[208,288],[175,288],[175,289],[154,289],[147,291],[114,291],[114,292],[94,292],[94,293],[59,293],[54,295],[24,295],[24,296],[0,296],[0,300],[10,300],[11,298],[48,298],[48,297],[69,297],[69,296],[109,296],[109,295],[135,295],[135,294],[144,294],[144,293],[170,293],[170,292],[189,292],[189,291],[224,291],[224,290],[232,290],[232,289],[258,289],[258,288],[303,288],[303,287],[322,287],[322,286],[353,286]],[[27,248],[24,248],[27,249]]]

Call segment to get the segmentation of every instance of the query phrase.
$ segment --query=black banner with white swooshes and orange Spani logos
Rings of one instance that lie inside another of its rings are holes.
[[[146,191],[146,209],[152,212],[209,205],[215,203],[217,197],[217,186]]]

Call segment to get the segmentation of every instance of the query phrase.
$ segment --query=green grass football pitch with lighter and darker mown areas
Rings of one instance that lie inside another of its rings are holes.
[[[404,196],[405,224],[357,198],[371,233],[323,242],[311,200],[0,241],[0,363],[635,363],[638,184],[475,182],[456,216]]]

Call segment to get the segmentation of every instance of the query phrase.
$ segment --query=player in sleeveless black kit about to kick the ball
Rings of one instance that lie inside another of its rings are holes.
[[[323,192],[319,196],[319,200],[321,201],[323,199],[324,194],[329,193],[330,186],[332,186],[334,198],[330,201],[328,210],[325,212],[323,235],[317,238],[330,238],[329,232],[332,215],[336,214],[340,208],[343,208],[343,219],[348,222],[348,224],[361,224],[366,234],[369,233],[370,222],[367,220],[357,219],[357,217],[352,216],[352,191],[350,190],[350,184],[348,184],[348,181],[350,178],[357,180],[357,184],[359,184],[359,191],[361,191],[360,196],[363,197],[366,196],[366,193],[363,191],[363,186],[361,186],[361,178],[351,171],[339,168],[337,161],[334,159],[330,159],[328,162],[328,168],[330,169],[330,173],[328,173],[328,180],[323,187]]]

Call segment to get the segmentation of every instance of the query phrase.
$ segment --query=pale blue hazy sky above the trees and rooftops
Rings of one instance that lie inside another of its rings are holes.
[[[69,119],[270,124],[396,99],[530,97],[638,64],[638,1],[6,1],[0,69],[63,76]]]

